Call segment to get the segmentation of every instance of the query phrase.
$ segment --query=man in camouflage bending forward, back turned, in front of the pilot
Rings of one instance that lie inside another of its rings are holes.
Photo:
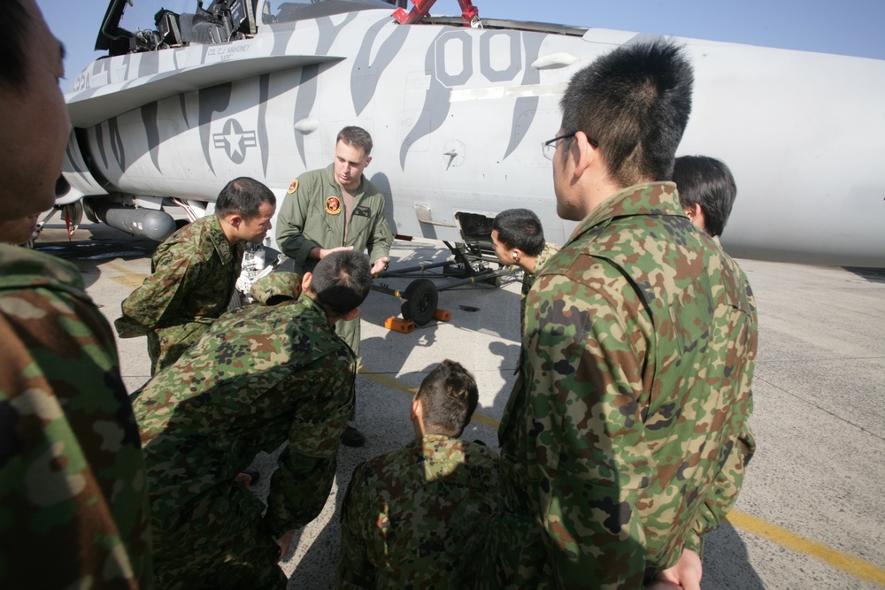
[[[297,301],[228,312],[135,394],[164,590],[286,586],[281,549],[326,503],[353,403],[353,353],[333,324],[371,284],[365,255],[326,257]],[[235,478],[287,441],[262,517]]]

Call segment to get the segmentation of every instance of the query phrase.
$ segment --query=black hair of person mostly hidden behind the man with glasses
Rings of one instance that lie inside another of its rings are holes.
[[[679,190],[682,207],[700,205],[707,234],[722,235],[737,196],[735,177],[728,166],[715,157],[677,157],[673,182]]]

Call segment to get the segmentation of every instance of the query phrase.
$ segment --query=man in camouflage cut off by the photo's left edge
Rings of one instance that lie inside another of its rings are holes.
[[[34,0],[4,4],[0,38],[7,220],[52,206],[71,125]],[[0,342],[0,587],[153,587],[138,430],[81,272],[0,246]]]

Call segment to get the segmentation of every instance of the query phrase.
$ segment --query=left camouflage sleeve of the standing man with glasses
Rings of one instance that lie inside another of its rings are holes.
[[[643,344],[622,315],[642,305],[607,264],[583,276],[596,280],[542,275],[529,294],[527,448],[542,477],[543,541],[560,587],[639,587],[646,550],[635,505],[652,461],[638,403]]]

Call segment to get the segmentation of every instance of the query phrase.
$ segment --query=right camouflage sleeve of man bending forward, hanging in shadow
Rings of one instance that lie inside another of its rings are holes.
[[[342,361],[344,357],[346,361]],[[315,395],[298,408],[289,446],[271,479],[265,520],[277,536],[317,517],[332,489],[335,456],[354,395],[350,350],[342,358],[319,371],[300,372],[298,383],[288,387],[309,387]]]

